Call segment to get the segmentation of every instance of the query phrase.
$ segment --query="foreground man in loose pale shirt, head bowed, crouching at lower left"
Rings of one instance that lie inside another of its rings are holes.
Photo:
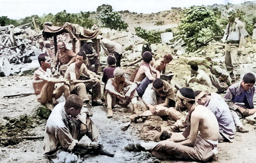
[[[101,140],[98,129],[82,106],[81,98],[70,95],[65,102],[55,106],[47,120],[44,152],[54,163],[67,160],[80,163],[80,156],[89,152],[114,156],[103,152],[102,145],[98,143]]]

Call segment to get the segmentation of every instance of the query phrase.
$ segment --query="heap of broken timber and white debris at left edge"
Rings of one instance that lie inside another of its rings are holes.
[[[39,34],[27,28],[0,27],[0,72],[1,76],[19,73],[39,67],[37,55],[42,51]],[[32,64],[27,64],[32,63]]]

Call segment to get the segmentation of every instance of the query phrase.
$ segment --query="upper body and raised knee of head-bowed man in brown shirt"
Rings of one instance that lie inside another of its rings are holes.
[[[155,108],[158,106],[175,107],[172,85],[160,78],[156,78],[153,83],[148,85],[142,100],[152,114],[157,113]]]

